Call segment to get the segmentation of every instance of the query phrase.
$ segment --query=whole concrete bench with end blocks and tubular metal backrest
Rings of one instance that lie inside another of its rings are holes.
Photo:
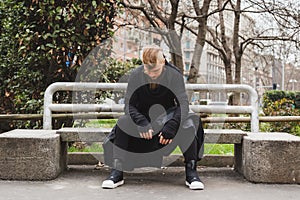
[[[250,104],[191,105],[196,113],[240,113],[251,115],[251,132],[205,129],[205,143],[234,144],[234,168],[249,181],[300,183],[300,139],[287,133],[258,133],[257,93],[248,85],[187,84],[187,90],[246,92]],[[44,130],[14,130],[0,135],[0,179],[49,180],[66,168],[67,142],[102,142],[111,129],[52,129],[52,112],[122,112],[124,105],[56,104],[57,91],[124,90],[126,84],[54,83],[45,92]],[[101,159],[101,158],[99,158]],[[274,178],[277,177],[277,178]]]

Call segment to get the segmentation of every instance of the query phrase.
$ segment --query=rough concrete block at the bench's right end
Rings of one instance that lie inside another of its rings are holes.
[[[300,183],[300,137],[251,133],[243,140],[243,174],[257,183]]]

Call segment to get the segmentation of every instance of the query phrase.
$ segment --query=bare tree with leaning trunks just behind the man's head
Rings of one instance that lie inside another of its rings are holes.
[[[196,82],[197,75],[200,66],[201,55],[203,52],[203,46],[205,44],[205,36],[207,31],[207,18],[209,16],[209,6],[212,0],[201,1],[180,1],[180,0],[165,0],[168,2],[170,8],[163,9],[159,6],[157,0],[148,0],[148,3],[140,3],[140,6],[133,4],[133,0],[123,1],[125,8],[131,10],[139,10],[150,25],[155,29],[159,29],[161,35],[166,38],[167,44],[170,48],[172,62],[183,71],[183,59],[182,59],[182,34],[184,29],[188,29],[196,36],[196,43],[194,46],[194,54],[192,58],[191,66],[195,70],[192,70],[189,74],[190,82]],[[142,1],[141,1],[142,2]],[[192,7],[187,6],[186,10],[179,9],[180,3],[191,3]],[[197,23],[196,27],[190,27],[186,23],[186,19],[192,19],[193,22]],[[167,28],[167,31],[162,31]]]

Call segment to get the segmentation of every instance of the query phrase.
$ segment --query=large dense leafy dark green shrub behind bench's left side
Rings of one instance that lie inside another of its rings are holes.
[[[0,1],[0,113],[41,113],[48,85],[74,81],[89,52],[113,35],[119,6],[118,0]],[[78,62],[67,66],[74,50]],[[58,94],[55,101],[72,99]],[[41,128],[40,122],[10,128]]]

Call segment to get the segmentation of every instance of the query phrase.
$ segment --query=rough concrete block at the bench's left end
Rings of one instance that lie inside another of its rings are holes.
[[[65,153],[56,131],[16,129],[0,134],[0,179],[54,179],[66,167]]]

